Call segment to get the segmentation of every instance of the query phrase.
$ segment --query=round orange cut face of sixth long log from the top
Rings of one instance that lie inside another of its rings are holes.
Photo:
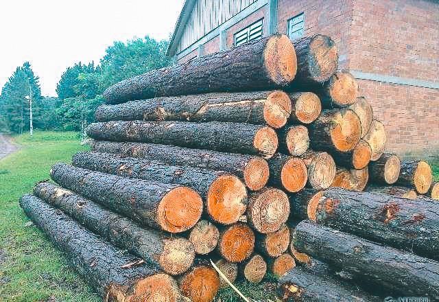
[[[188,187],[171,189],[161,200],[157,210],[157,222],[170,233],[187,231],[200,220],[203,200]]]

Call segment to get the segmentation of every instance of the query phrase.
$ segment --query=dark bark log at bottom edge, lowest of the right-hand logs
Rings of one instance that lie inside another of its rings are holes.
[[[278,281],[277,296],[285,302],[383,301],[361,292],[331,275],[321,275],[296,266]]]

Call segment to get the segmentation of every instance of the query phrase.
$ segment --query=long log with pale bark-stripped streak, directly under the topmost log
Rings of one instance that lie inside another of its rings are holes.
[[[292,112],[283,91],[156,97],[97,108],[97,121],[233,121],[281,128]]]

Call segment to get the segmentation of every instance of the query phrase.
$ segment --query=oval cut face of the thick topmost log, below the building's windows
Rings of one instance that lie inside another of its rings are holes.
[[[264,50],[264,65],[270,80],[277,85],[289,84],[297,72],[296,50],[285,34],[268,39]]]

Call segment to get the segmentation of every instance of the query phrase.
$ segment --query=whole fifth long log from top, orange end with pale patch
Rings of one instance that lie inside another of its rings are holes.
[[[246,186],[237,176],[226,172],[164,165],[102,152],[79,152],[73,155],[72,163],[87,170],[190,187],[206,200],[207,214],[222,224],[237,222],[247,208]]]

